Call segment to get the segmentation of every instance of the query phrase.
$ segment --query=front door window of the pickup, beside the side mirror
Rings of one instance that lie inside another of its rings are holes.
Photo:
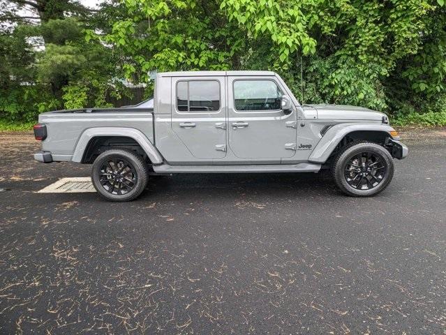
[[[282,92],[272,80],[234,82],[236,110],[280,110]]]

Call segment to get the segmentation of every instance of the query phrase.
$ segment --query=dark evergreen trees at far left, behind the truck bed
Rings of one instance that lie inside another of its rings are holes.
[[[16,0],[1,5],[3,119],[26,121],[54,108],[105,105],[114,63],[104,45],[85,40],[84,29],[92,27],[95,11],[78,1]]]

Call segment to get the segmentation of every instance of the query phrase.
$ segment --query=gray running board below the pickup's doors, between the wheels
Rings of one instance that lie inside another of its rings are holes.
[[[298,163],[277,165],[152,165],[156,173],[255,173],[319,172],[320,164]]]

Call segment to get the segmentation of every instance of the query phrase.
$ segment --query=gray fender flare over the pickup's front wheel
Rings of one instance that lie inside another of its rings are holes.
[[[329,128],[327,133],[313,149],[309,161],[313,163],[325,163],[341,140],[354,131],[381,131],[389,134],[394,128],[386,124],[336,124]]]

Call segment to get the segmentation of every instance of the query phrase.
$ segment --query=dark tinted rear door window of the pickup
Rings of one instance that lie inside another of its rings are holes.
[[[217,80],[177,82],[177,108],[180,112],[220,110],[220,83]]]

